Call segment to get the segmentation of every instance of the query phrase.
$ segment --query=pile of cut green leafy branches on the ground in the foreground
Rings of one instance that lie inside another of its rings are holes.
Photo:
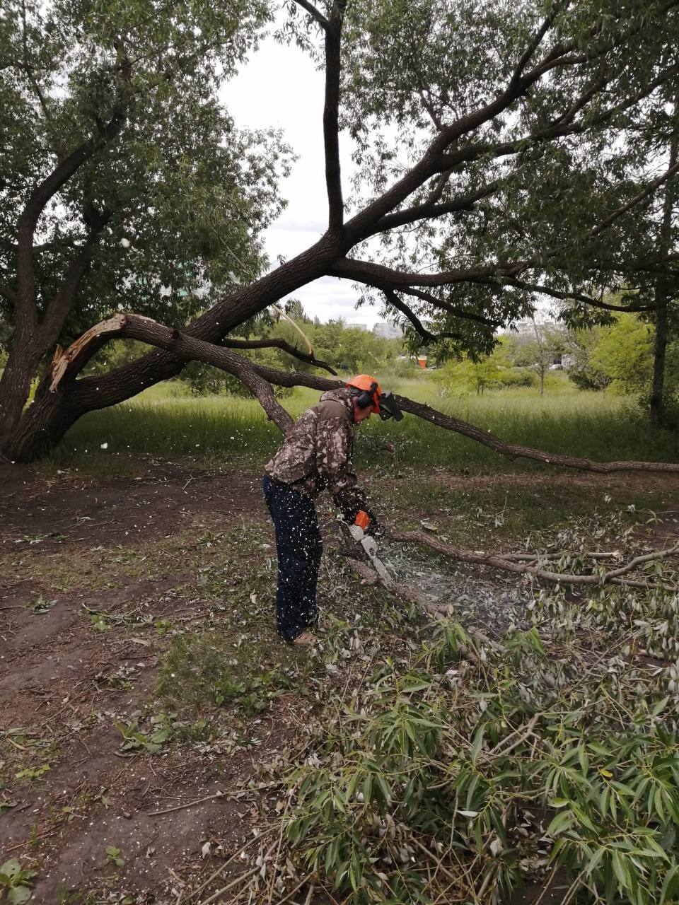
[[[288,778],[293,861],[350,902],[679,901],[672,578],[542,592],[499,641],[446,620],[407,661],[376,642]]]

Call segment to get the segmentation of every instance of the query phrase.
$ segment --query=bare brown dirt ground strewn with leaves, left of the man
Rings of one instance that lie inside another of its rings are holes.
[[[173,633],[219,624],[221,601],[196,575],[212,544],[196,536],[261,523],[258,483],[167,466],[137,481],[3,474],[0,862],[37,871],[33,901],[87,890],[163,901],[171,871],[207,872],[203,846],[230,851],[268,808],[263,791],[230,793],[257,785],[258,765],[290,738],[289,700],[250,720],[247,738],[194,740],[173,718],[189,740],[156,754],[121,750],[118,728],[139,723],[150,738],[142,719],[162,710],[154,690]]]

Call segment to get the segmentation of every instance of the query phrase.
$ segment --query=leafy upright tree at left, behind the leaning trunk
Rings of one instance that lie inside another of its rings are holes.
[[[263,266],[281,209],[274,134],[216,100],[267,14],[19,0],[0,12],[0,304],[14,327],[0,383],[13,432],[42,359],[130,297],[179,326]]]

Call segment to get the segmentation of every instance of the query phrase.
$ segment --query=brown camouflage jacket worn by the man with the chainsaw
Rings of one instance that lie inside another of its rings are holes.
[[[367,504],[351,467],[354,423],[350,400],[345,389],[321,395],[318,405],[298,418],[264,471],[311,499],[329,491],[345,519],[353,521]]]

